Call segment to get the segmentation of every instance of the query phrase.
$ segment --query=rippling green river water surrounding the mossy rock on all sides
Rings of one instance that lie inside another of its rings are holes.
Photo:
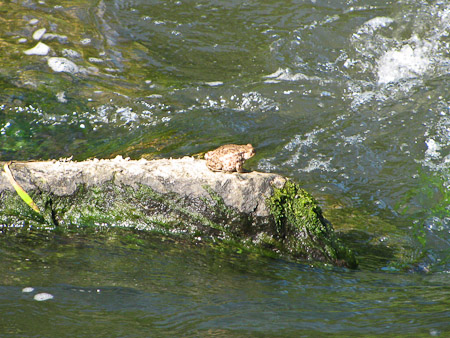
[[[1,337],[448,336],[448,1],[24,0],[0,23],[2,160],[252,143],[360,260],[9,224]]]

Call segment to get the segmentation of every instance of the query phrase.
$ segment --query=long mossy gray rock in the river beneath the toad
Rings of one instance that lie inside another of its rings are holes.
[[[3,227],[136,227],[239,251],[356,267],[314,198],[277,174],[212,172],[191,157],[9,167],[40,214],[0,175]]]

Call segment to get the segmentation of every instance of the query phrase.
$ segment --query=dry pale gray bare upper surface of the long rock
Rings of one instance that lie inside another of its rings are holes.
[[[2,168],[4,162],[1,163]],[[77,186],[86,187],[113,182],[138,187],[146,185],[159,193],[177,193],[191,198],[206,197],[209,186],[223,198],[225,204],[253,216],[269,214],[265,199],[272,193],[272,185],[282,187],[286,181],[280,175],[250,172],[222,173],[207,169],[205,161],[181,159],[14,162],[10,165],[16,181],[26,190],[70,196]],[[4,173],[0,175],[0,193],[13,190]]]

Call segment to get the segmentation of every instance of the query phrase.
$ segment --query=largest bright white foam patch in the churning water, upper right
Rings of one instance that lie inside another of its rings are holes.
[[[431,60],[426,46],[413,49],[410,45],[386,52],[378,61],[378,84],[416,78],[429,68]]]

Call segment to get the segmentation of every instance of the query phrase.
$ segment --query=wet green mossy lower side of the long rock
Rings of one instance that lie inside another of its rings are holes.
[[[295,183],[274,189],[267,201],[271,216],[256,217],[225,205],[208,186],[208,197],[161,194],[148,186],[79,186],[72,196],[30,194],[42,211],[33,212],[18,196],[3,193],[0,224],[50,229],[118,227],[184,238],[221,252],[284,257],[356,267],[324,221],[320,207]],[[62,230],[64,231],[64,230]]]

